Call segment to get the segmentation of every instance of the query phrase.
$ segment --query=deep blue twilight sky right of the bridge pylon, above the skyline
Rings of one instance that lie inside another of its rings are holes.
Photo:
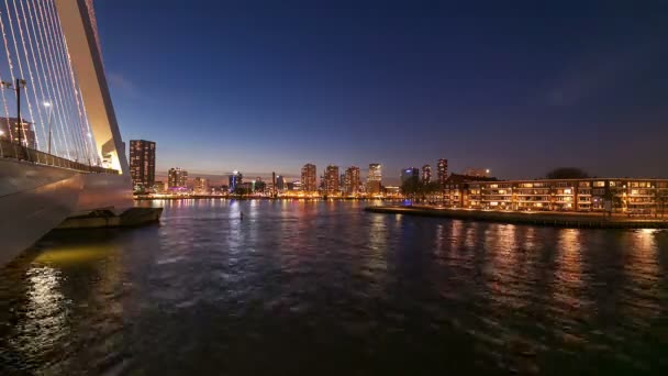
[[[160,172],[668,177],[666,1],[96,7],[123,139],[156,141]]]

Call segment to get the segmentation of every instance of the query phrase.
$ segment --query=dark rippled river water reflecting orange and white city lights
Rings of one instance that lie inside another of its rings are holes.
[[[668,373],[665,231],[153,204],[0,269],[1,375]]]

